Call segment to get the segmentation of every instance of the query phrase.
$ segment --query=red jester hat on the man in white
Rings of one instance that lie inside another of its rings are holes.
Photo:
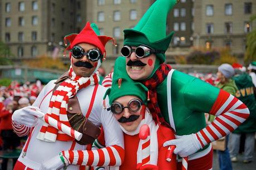
[[[109,36],[100,36],[100,31],[95,23],[92,23],[90,25],[90,22],[87,22],[85,27],[82,29],[82,31],[79,34],[73,33],[69,34],[64,37],[65,45],[67,46],[67,41],[69,41],[70,44],[68,44],[66,50],[71,50],[76,44],[79,43],[88,43],[92,44],[93,46],[96,46],[102,56],[106,56],[106,49],[105,45],[108,41],[112,40],[115,44],[115,39]],[[71,56],[70,56],[71,58]],[[102,58],[101,58],[102,62]]]

